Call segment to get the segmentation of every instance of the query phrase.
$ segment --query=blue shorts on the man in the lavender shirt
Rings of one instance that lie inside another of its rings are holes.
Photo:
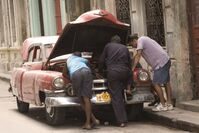
[[[166,84],[170,81],[169,70],[171,61],[169,60],[163,67],[154,70],[153,84]]]

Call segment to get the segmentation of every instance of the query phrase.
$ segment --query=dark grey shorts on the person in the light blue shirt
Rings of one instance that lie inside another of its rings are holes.
[[[72,86],[78,97],[92,98],[93,78],[88,68],[81,68],[75,71],[71,78]]]

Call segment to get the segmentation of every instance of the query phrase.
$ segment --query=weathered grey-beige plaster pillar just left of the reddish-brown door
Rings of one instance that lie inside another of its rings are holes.
[[[172,58],[171,85],[178,101],[192,99],[186,0],[164,0],[166,48]]]

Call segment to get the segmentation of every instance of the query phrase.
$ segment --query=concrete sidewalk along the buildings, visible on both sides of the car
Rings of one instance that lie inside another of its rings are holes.
[[[9,73],[0,73],[0,79],[9,82]],[[153,112],[151,107],[145,107],[147,118],[170,127],[199,133],[199,100],[186,101],[179,104],[181,108],[172,111]]]

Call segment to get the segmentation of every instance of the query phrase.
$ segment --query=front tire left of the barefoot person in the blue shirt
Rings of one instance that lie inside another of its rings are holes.
[[[46,120],[49,125],[58,126],[65,122],[66,110],[63,107],[45,106]]]

